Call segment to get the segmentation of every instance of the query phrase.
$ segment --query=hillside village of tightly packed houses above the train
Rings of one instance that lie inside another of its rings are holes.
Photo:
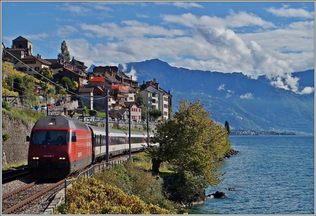
[[[85,106],[96,112],[105,111],[106,108],[118,119],[128,119],[128,107],[131,105],[131,119],[141,121],[147,118],[147,110],[153,113],[153,116],[168,119],[172,112],[172,95],[170,91],[163,90],[157,79],[143,81],[139,84],[128,76],[117,66],[98,66],[94,67],[92,72],[88,72],[88,67],[83,61],[75,59],[67,60],[64,57],[60,59],[43,59],[40,54],[34,55],[33,42],[24,37],[17,37],[12,41],[11,48],[5,47],[2,42],[2,59],[16,70],[16,74],[24,73],[30,75],[30,83],[24,83],[29,86],[28,90],[21,90],[23,86],[16,80],[19,76],[14,74],[14,85],[12,91],[12,80],[3,83],[2,95],[7,96],[4,99],[12,102],[14,96],[30,95],[30,91],[36,97],[44,98],[47,94],[55,95],[53,101],[48,103],[55,104],[57,98],[68,97],[70,100],[78,100],[81,108]],[[40,74],[47,79],[43,79]],[[34,79],[33,79],[34,77]],[[11,85],[11,86],[10,86]],[[63,88],[67,89],[65,91]],[[105,98],[106,90],[109,90],[109,97]],[[28,92],[27,92],[28,91]],[[13,95],[12,95],[13,92]],[[10,97],[12,96],[12,97]],[[108,107],[106,107],[108,99]],[[17,102],[18,101],[18,102]],[[43,104],[40,99],[38,105]],[[40,103],[41,102],[41,103]],[[15,100],[15,104],[25,107],[34,106],[34,104],[21,104],[20,100]],[[76,107],[75,107],[76,108]],[[80,108],[80,107],[79,107]],[[143,113],[143,114],[142,114]]]

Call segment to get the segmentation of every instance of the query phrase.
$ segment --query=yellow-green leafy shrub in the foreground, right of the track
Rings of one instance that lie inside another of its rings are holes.
[[[66,214],[175,214],[95,178],[82,177],[67,189]]]

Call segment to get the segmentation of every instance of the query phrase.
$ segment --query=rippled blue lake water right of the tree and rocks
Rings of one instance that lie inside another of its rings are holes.
[[[219,163],[225,192],[189,214],[315,214],[314,136],[230,136],[239,155]],[[238,190],[229,191],[228,187]]]

